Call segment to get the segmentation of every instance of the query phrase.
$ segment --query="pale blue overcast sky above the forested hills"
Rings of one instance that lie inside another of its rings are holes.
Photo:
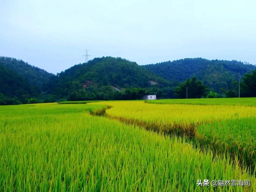
[[[256,1],[0,0],[0,56],[57,73],[94,57],[256,64]]]

